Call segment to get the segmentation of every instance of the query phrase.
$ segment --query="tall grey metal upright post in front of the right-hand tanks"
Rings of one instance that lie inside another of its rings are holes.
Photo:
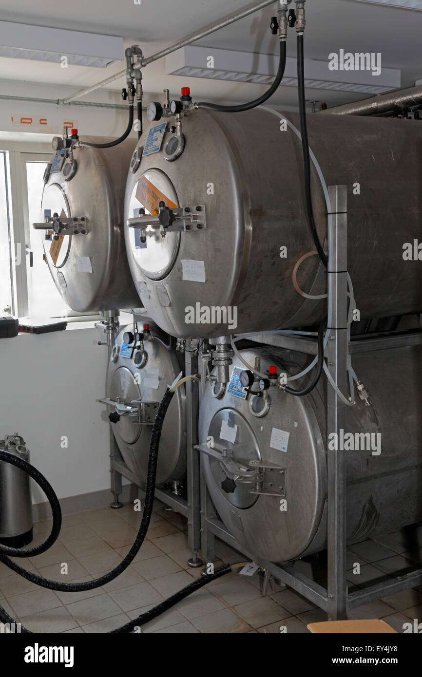
[[[342,393],[347,393],[347,186],[329,187],[329,298],[333,313],[326,345],[328,368]],[[346,405],[327,387],[327,443],[330,433],[345,430]],[[337,445],[338,446],[338,445]],[[327,446],[328,494],[328,614],[330,620],[347,617],[345,452]]]

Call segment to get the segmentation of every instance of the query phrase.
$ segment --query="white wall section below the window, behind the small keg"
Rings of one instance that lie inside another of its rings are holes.
[[[0,439],[24,437],[58,498],[110,487],[108,422],[96,402],[105,396],[107,366],[100,339],[93,328],[0,339]],[[43,501],[36,489],[33,502]]]

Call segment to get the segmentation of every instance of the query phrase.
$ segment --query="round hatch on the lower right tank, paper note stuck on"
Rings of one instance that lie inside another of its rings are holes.
[[[249,461],[259,460],[259,445],[251,426],[241,414],[234,409],[221,409],[209,424],[208,435],[213,437],[215,450],[228,450],[228,457],[240,468],[250,468]],[[255,487],[253,470],[251,479],[245,482],[234,480],[224,471],[224,464],[209,457],[211,473],[221,494],[236,508],[251,508],[257,500],[251,489]]]

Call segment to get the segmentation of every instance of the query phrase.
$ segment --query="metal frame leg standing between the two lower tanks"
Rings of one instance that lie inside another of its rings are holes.
[[[198,373],[198,355],[191,352],[191,341],[186,341],[185,373],[186,376]],[[188,560],[190,567],[201,567],[202,559],[198,557],[201,548],[201,489],[199,478],[199,459],[194,450],[198,443],[198,410],[199,392],[196,381],[186,381],[186,465],[188,475],[188,544],[192,550],[192,558]]]

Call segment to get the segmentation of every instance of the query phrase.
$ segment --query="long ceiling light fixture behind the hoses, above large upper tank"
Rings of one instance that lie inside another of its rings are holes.
[[[171,75],[268,85],[276,75],[278,56],[188,45],[167,56],[166,67]],[[379,94],[398,89],[400,76],[395,68],[381,68],[377,76],[370,70],[330,70],[328,53],[326,61],[305,59],[305,87],[311,89]],[[281,84],[296,87],[295,58],[287,57]]]

